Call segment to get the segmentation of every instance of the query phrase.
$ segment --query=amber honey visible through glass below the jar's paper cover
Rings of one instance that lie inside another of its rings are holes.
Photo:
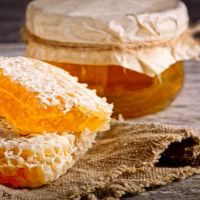
[[[162,110],[175,98],[184,81],[183,62],[171,65],[158,76],[150,77],[120,66],[89,66],[56,63],[97,94],[114,103],[114,116],[139,117]]]

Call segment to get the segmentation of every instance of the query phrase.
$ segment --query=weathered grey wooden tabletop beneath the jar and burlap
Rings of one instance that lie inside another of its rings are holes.
[[[1,56],[23,55],[22,44],[0,44]],[[186,62],[186,81],[180,95],[165,111],[132,120],[192,128],[200,133],[200,62]],[[200,175],[158,187],[124,200],[200,200]]]

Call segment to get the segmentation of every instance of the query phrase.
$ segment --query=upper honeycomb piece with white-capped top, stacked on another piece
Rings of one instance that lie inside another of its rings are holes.
[[[106,130],[112,105],[77,78],[25,57],[0,57],[0,115],[20,134]]]

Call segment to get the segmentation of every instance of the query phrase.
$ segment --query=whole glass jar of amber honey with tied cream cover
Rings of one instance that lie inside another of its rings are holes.
[[[77,76],[125,118],[169,105],[183,86],[183,60],[200,52],[178,0],[37,0],[25,32],[28,57]]]

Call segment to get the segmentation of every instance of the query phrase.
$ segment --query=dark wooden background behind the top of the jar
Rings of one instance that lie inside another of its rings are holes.
[[[26,6],[30,1],[0,0],[0,43],[20,42],[20,27],[24,24]],[[183,1],[188,6],[191,22],[199,20],[200,0]]]

